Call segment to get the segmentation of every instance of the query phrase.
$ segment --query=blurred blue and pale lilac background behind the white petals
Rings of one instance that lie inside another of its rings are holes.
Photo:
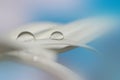
[[[0,0],[0,32],[40,21],[68,23],[95,15],[120,18],[120,0]],[[87,80],[120,79],[120,26],[89,45],[103,52],[104,59],[77,48],[60,54],[58,62],[83,74]],[[50,80],[42,70],[0,62],[0,80]]]

